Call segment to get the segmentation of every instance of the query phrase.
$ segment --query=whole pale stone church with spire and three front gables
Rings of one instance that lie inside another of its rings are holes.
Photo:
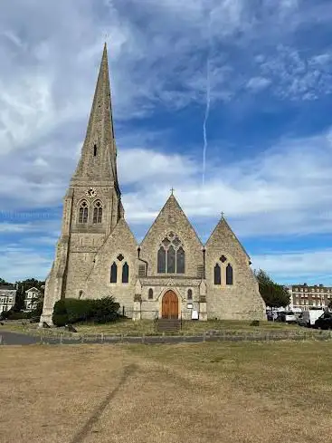
[[[63,297],[107,295],[133,320],[262,320],[265,304],[250,265],[223,217],[204,245],[173,192],[138,244],[121,202],[105,44],[81,159],[63,201],[41,324],[52,324],[54,303]]]

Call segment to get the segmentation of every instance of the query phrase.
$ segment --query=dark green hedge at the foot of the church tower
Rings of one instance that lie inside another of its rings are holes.
[[[98,300],[78,300],[65,298],[54,305],[52,322],[56,326],[64,326],[84,321],[109,323],[119,318],[119,303],[113,297]]]

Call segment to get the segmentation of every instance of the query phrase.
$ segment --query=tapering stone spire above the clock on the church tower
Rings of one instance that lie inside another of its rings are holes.
[[[86,180],[94,183],[113,182],[114,188],[119,191],[117,147],[114,138],[106,43],[102,53],[88,129],[81,149],[81,159],[71,178],[71,183]]]

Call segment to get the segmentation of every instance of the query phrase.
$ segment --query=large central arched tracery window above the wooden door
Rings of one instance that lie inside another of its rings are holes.
[[[158,274],[185,274],[185,249],[182,241],[170,232],[157,252]]]

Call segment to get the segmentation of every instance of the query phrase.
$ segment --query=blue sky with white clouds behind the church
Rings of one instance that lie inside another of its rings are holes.
[[[319,0],[2,2],[0,276],[52,265],[106,39],[138,239],[174,187],[203,241],[223,211],[254,268],[332,284],[331,29]]]

